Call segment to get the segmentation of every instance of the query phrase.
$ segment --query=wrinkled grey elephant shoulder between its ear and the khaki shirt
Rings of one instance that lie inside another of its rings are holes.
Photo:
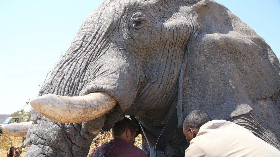
[[[259,99],[248,114],[229,119],[250,130],[254,135],[280,150],[280,96]]]

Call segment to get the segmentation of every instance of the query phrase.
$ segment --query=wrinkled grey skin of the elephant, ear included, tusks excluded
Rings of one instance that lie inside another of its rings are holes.
[[[39,96],[102,91],[118,103],[92,121],[61,124],[32,110],[26,156],[86,156],[93,137],[125,115],[152,142],[177,105],[179,133],[166,154],[184,155],[184,117],[204,110],[280,148],[279,61],[269,45],[227,8],[202,0],[104,1]],[[142,144],[147,152],[145,139]]]

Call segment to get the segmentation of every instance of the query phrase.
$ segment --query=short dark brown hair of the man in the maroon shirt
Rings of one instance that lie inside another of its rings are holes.
[[[132,120],[125,117],[123,120],[116,122],[116,124],[113,126],[112,136],[121,136],[125,130],[128,129],[131,133],[134,133],[138,129],[138,126],[134,124]]]

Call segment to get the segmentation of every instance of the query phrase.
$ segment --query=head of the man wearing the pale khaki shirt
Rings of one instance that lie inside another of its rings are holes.
[[[201,110],[195,110],[188,114],[183,123],[183,132],[188,144],[190,144],[190,140],[197,136],[200,127],[209,121],[211,121],[211,118]]]

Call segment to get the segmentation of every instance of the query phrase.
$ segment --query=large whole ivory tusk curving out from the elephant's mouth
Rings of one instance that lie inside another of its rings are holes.
[[[116,105],[116,100],[104,92],[71,97],[45,94],[34,98],[30,105],[55,122],[79,123],[104,115]]]

